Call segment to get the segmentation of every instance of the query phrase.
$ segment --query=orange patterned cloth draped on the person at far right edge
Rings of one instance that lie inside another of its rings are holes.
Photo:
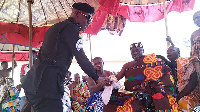
[[[197,76],[199,79],[199,61],[195,61],[194,58],[183,58],[180,57],[177,60],[177,78],[178,78],[178,91],[181,92],[185,88],[185,86],[188,84],[190,75],[196,70]],[[192,109],[196,106],[200,105],[200,82],[198,81],[198,85],[194,89],[194,91],[191,92],[191,94],[182,97],[179,100],[179,108],[183,112],[191,112]]]

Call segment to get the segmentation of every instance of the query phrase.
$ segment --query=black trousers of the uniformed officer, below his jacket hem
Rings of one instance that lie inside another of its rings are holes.
[[[50,99],[26,93],[26,97],[35,112],[63,112],[61,99]]]

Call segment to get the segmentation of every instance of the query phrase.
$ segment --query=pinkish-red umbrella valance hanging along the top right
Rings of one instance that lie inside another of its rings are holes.
[[[94,15],[91,25],[85,33],[96,35],[101,29],[107,14],[115,16],[117,13],[131,22],[154,22],[164,18],[163,4],[157,5],[125,5],[119,0],[98,0],[100,8]],[[167,13],[171,11],[183,12],[192,10],[195,0],[174,0],[166,2]]]

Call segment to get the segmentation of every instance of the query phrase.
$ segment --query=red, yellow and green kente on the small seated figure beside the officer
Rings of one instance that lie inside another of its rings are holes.
[[[73,89],[73,95],[76,99],[86,102],[87,98],[90,97],[89,89],[86,83],[81,82]],[[85,112],[86,105],[81,105],[77,101],[72,101],[72,108],[75,112]]]

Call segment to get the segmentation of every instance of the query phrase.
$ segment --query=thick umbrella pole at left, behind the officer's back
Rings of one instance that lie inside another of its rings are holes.
[[[32,12],[31,12],[31,4],[33,4],[33,0],[27,0],[28,2],[28,12],[29,12],[29,67],[31,68],[33,65],[32,59]]]

